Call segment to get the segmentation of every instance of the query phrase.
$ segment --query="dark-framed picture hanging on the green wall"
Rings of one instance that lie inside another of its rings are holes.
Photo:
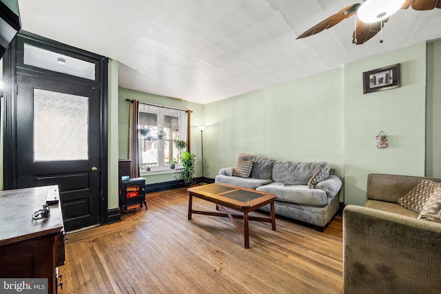
[[[401,87],[400,63],[363,72],[363,93]]]

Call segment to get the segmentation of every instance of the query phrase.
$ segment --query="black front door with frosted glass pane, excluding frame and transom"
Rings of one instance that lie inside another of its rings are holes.
[[[17,188],[59,185],[66,231],[99,224],[99,90],[25,74],[17,85]]]

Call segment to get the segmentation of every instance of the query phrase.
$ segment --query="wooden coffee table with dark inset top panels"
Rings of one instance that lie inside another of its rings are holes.
[[[276,218],[274,216],[274,199],[276,196],[271,193],[245,189],[226,184],[209,184],[187,189],[189,193],[188,200],[188,219],[192,219],[192,213],[205,214],[206,216],[220,216],[229,218],[234,226],[242,233],[245,240],[245,248],[249,248],[249,220],[258,222],[271,222],[271,227],[276,230]],[[192,209],[192,198],[197,197],[209,202],[216,203],[216,209],[222,212],[198,211]],[[271,204],[271,213],[269,218],[260,218],[249,216],[250,211],[259,209],[266,204]],[[243,212],[243,215],[229,213],[225,207]],[[235,219],[244,221],[243,229]]]

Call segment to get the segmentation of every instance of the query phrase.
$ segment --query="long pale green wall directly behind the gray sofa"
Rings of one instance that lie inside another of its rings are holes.
[[[344,70],[205,105],[204,164],[214,178],[240,152],[277,160],[325,160],[342,175]],[[205,151],[207,150],[207,151]]]

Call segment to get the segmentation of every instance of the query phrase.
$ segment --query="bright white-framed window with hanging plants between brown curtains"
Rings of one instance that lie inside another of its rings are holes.
[[[165,142],[169,142],[172,144],[173,148],[176,149],[174,146],[174,140],[183,140],[187,142],[187,125],[188,125],[188,114],[187,111],[183,109],[175,109],[170,107],[162,107],[157,105],[150,105],[145,103],[139,103],[139,109],[138,109],[138,129],[145,127],[145,122],[141,121],[141,112],[144,113],[150,113],[150,114],[156,114],[157,115],[157,131],[152,132],[152,135],[156,138],[157,132],[164,131],[167,132],[167,136],[164,140],[156,140],[154,143],[154,146],[158,149],[156,150],[158,153],[158,162],[156,162],[156,166],[150,166],[150,171],[146,171],[143,165],[145,165],[145,162],[142,162],[143,156],[141,152],[143,152],[142,148],[142,138],[139,138],[139,164],[140,171],[142,175],[148,175],[148,174],[168,174],[168,173],[174,173],[182,171],[183,166],[181,164],[181,158],[179,158],[179,155],[176,156],[176,160],[178,161],[178,164],[176,165],[175,169],[170,169],[170,158],[169,162],[165,161]],[[170,132],[170,129],[165,129],[165,116],[176,116],[179,120],[179,131],[178,132]],[[169,134],[171,133],[171,134]],[[182,152],[185,150],[182,150]]]

